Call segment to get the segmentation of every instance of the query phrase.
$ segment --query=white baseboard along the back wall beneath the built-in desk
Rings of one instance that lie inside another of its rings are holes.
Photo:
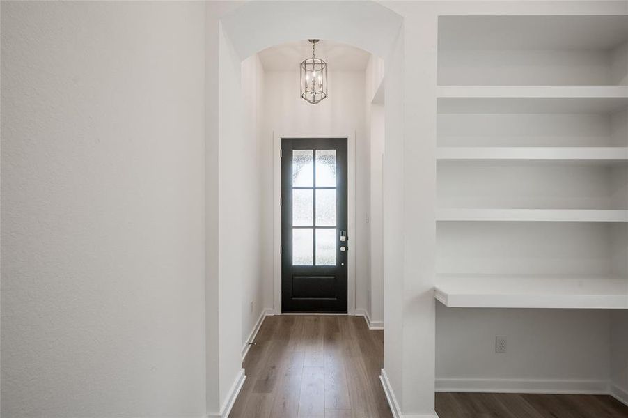
[[[519,394],[608,394],[606,380],[524,380],[437,378],[436,392],[501,392]]]

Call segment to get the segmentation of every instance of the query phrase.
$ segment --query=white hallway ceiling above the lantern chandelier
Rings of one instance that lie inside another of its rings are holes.
[[[307,40],[289,42],[264,49],[258,56],[266,71],[295,70],[312,56],[312,44]],[[363,71],[370,54],[351,45],[321,40],[316,44],[316,56],[327,62],[330,71]]]

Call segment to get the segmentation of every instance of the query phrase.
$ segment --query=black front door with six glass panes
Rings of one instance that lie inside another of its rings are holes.
[[[347,311],[347,139],[281,139],[281,307]]]

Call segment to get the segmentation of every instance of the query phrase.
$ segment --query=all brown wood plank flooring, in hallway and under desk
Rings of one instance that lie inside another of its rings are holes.
[[[230,418],[392,418],[384,333],[358,316],[268,316]],[[628,418],[611,396],[437,393],[439,418]]]

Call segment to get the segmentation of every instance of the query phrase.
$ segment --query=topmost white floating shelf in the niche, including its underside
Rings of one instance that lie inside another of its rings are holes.
[[[628,86],[439,86],[440,114],[608,114],[628,107]]]

